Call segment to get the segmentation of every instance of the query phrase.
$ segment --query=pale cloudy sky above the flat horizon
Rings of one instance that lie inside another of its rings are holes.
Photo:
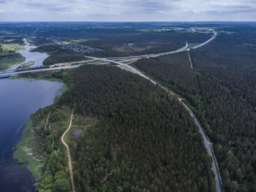
[[[0,21],[256,21],[256,0],[0,0]]]

